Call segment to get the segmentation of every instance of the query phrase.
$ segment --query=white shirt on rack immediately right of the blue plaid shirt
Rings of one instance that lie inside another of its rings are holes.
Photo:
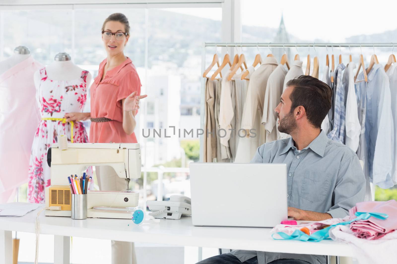
[[[345,145],[354,152],[357,151],[358,142],[360,141],[361,125],[358,121],[357,97],[354,87],[355,63],[349,62],[343,73],[343,86],[345,87],[346,102],[346,120],[345,120]]]

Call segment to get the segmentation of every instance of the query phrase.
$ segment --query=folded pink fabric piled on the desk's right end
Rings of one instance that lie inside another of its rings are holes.
[[[353,217],[356,212],[365,213],[385,213],[389,217],[385,220],[370,217],[367,220],[355,221],[350,224],[350,229],[355,236],[365,239],[378,239],[385,234],[397,229],[397,201],[390,200],[366,201],[357,203],[355,207],[349,210],[350,216]]]

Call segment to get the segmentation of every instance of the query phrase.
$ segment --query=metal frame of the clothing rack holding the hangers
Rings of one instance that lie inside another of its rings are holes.
[[[393,47],[397,46],[395,43],[249,43],[249,42],[205,42],[202,44],[202,53],[201,53],[201,72],[204,72],[206,62],[206,47]],[[229,52],[229,51],[227,51]],[[221,61],[222,63],[222,61]],[[201,92],[200,92],[200,129],[204,128],[204,101],[205,101],[205,80],[202,78],[201,80]],[[206,137],[206,131],[200,137],[200,162],[203,160],[203,150],[204,150],[204,138]]]

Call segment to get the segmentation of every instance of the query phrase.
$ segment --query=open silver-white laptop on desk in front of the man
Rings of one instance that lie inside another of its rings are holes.
[[[287,220],[287,165],[190,163],[194,226],[273,228]]]

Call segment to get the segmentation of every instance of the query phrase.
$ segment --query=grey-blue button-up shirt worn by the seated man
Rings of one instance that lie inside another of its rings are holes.
[[[324,131],[300,152],[292,138],[265,143],[251,162],[287,164],[289,207],[329,213],[333,218],[349,215],[349,209],[364,201],[365,178],[355,152],[327,138]],[[310,242],[307,242],[310,243]],[[325,264],[325,256],[232,251],[241,262],[258,256],[258,264],[292,258]]]

